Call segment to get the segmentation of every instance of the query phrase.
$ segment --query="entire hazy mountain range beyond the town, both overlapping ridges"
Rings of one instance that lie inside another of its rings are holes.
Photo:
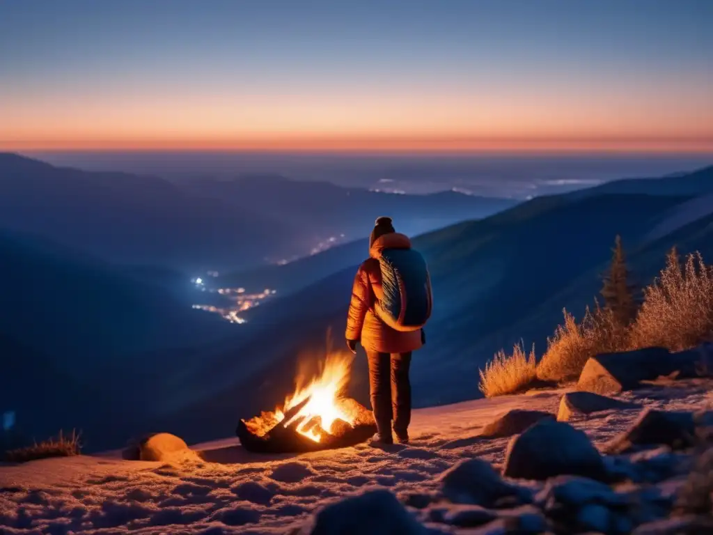
[[[456,193],[389,195],[274,177],[175,185],[0,153],[0,228],[41,235],[111,263],[183,272],[239,270],[307,255],[322,240],[357,228],[368,232],[382,212],[399,214],[404,225],[422,232],[513,203]]]

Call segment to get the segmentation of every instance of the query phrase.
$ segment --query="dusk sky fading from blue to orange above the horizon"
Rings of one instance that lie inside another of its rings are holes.
[[[713,149],[713,1],[0,2],[0,149]]]

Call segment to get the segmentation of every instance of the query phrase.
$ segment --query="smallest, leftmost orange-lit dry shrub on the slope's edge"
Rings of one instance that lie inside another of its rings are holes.
[[[513,354],[500,350],[493,360],[480,370],[480,389],[486,397],[503,396],[520,392],[535,381],[535,347],[525,355],[522,344],[515,344]]]

